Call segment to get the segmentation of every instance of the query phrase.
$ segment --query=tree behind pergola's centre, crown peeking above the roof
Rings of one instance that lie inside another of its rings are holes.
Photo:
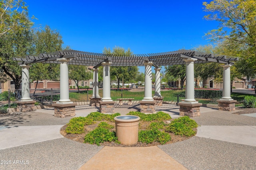
[[[124,56],[124,55],[131,55],[133,52],[128,48],[125,50],[122,47],[114,47],[111,51],[110,48],[104,48],[103,50],[104,54],[113,54],[118,56]],[[136,74],[138,74],[138,67],[132,66],[110,66],[110,75],[116,77],[118,88],[120,87],[120,81],[124,80],[126,82],[132,80],[133,77],[136,77]]]

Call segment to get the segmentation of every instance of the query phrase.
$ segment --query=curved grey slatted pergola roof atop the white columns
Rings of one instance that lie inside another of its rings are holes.
[[[216,55],[211,53],[202,53],[191,50],[178,50],[164,53],[152,53],[152,54],[133,54],[133,55],[112,55],[101,53],[90,53],[75,50],[56,51],[52,53],[39,54],[34,56],[26,56],[26,58],[13,58],[14,61],[20,61],[19,64],[30,63],[58,63],[55,60],[58,58],[73,58],[69,64],[94,66],[98,68],[102,65],[102,62],[109,61],[111,59],[111,66],[144,66],[144,61],[152,61],[156,68],[159,66],[168,66],[176,64],[185,64],[183,59],[196,58],[198,61],[195,63],[222,63],[222,64],[234,64],[232,61],[238,61],[238,57],[230,57],[225,55]]]

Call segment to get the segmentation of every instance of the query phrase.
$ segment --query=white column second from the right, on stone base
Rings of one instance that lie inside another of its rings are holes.
[[[197,59],[184,59],[186,62],[186,99],[184,102],[198,103],[195,100],[195,87],[194,87],[194,62]]]

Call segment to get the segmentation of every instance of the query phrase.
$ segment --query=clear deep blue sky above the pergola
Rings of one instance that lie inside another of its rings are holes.
[[[102,53],[104,47],[134,54],[192,49],[208,44],[201,0],[24,0],[35,27],[49,25],[71,49]],[[210,2],[210,1],[206,1]]]

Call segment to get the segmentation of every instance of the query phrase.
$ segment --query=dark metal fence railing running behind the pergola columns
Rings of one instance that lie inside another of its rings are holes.
[[[154,88],[152,96],[154,96]],[[103,90],[99,89],[99,95],[102,97]],[[116,101],[118,98],[134,98],[134,101],[140,101],[144,98],[144,88],[111,88],[110,96]],[[161,96],[164,102],[177,102],[185,99],[185,89],[166,88],[161,89]],[[72,102],[88,102],[92,97],[92,89],[70,89],[69,98]],[[216,100],[222,97],[222,90],[219,89],[195,89],[195,99],[200,103],[217,104]],[[60,100],[60,89],[30,89],[30,98],[36,101],[36,104],[52,104]],[[21,89],[9,90],[9,107],[15,107],[16,101],[21,99]]]

